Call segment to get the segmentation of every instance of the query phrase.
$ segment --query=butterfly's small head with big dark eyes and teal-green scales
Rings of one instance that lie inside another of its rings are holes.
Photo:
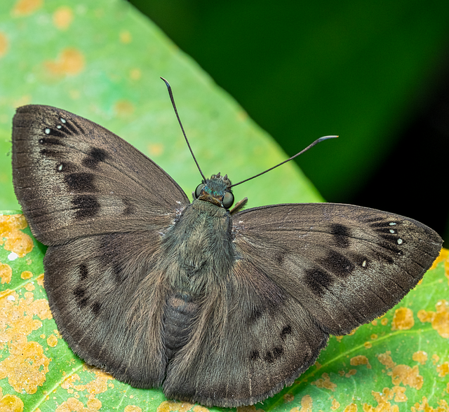
[[[210,179],[203,180],[203,183],[196,186],[194,198],[229,209],[234,203],[234,195],[229,186],[231,181],[227,174],[213,174]]]

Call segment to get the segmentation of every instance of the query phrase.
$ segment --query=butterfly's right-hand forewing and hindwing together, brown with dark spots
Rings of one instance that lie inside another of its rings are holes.
[[[441,249],[417,221],[351,205],[259,207],[233,221],[234,268],[168,367],[168,397],[230,407],[272,396],[314,363],[328,334],[393,307]]]

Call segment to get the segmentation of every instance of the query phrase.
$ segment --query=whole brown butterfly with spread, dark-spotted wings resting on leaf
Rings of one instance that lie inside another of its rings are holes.
[[[123,139],[49,106],[17,109],[13,184],[48,245],[44,286],[69,347],[133,387],[206,406],[291,385],[329,334],[396,305],[442,245],[424,224],[366,207],[230,209],[220,173],[189,202]]]

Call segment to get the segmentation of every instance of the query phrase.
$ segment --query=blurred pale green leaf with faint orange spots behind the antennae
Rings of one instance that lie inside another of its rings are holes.
[[[11,180],[11,120],[15,107],[28,103],[100,123],[146,153],[190,195],[201,176],[159,76],[172,85],[204,174],[227,173],[237,182],[287,158],[232,97],[125,1],[72,6],[61,0],[2,1],[2,42],[1,209],[18,208]],[[237,186],[234,194],[236,200],[248,197],[249,207],[322,200],[294,162]]]

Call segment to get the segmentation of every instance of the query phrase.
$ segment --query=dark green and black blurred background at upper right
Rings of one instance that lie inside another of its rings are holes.
[[[289,156],[340,135],[297,158],[326,200],[403,214],[449,239],[448,1],[130,3]]]

